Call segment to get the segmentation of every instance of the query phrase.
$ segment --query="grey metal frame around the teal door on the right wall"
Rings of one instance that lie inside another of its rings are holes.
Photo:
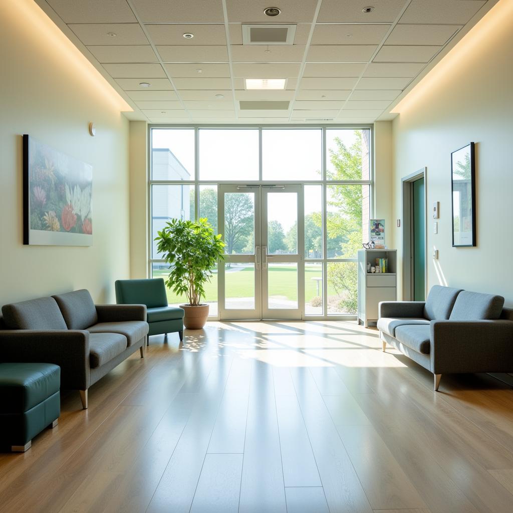
[[[413,182],[424,179],[424,297],[427,297],[427,167],[401,180],[403,219],[403,301],[413,301]]]

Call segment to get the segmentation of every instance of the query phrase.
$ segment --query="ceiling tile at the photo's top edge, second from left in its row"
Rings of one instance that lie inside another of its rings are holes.
[[[221,0],[132,0],[145,23],[222,23]]]

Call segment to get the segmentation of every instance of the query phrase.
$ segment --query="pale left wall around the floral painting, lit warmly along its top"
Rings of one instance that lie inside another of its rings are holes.
[[[0,306],[77,288],[113,302],[114,280],[130,274],[128,121],[119,96],[55,31],[31,0],[0,2]],[[23,245],[24,133],[92,164],[92,247]]]

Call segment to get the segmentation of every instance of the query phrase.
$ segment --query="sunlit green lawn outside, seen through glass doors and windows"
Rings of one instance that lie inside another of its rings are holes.
[[[237,267],[235,267],[237,269]],[[167,279],[166,270],[154,270],[153,278]],[[321,266],[305,266],[305,300],[311,301],[317,294],[317,282],[312,278],[321,278]],[[242,267],[240,270],[227,269],[226,277],[226,295],[230,298],[248,298],[254,294],[254,270],[252,267]],[[322,285],[321,294],[322,294]],[[212,302],[218,299],[218,274],[214,272],[210,283],[205,286],[205,301]],[[297,270],[293,267],[269,266],[269,295],[282,296],[290,301],[298,299],[297,291]],[[167,297],[170,304],[183,303],[185,298],[179,298],[167,291]]]

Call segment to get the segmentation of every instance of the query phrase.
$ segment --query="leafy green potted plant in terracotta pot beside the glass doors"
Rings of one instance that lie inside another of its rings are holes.
[[[180,305],[185,310],[184,326],[201,329],[208,317],[208,304],[204,285],[210,281],[212,269],[223,260],[224,243],[221,235],[215,235],[208,220],[181,221],[172,219],[155,238],[157,251],[169,264],[167,287],[178,295],[184,295],[188,303]]]

